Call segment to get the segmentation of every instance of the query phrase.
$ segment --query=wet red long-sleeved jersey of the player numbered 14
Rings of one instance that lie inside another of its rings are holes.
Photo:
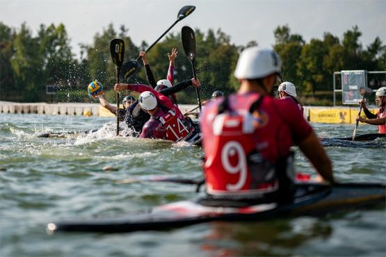
[[[129,84],[128,89],[140,93],[145,91],[152,92],[156,97],[159,106],[162,107],[165,111],[165,114],[168,115],[167,113],[169,110],[173,113],[173,115],[168,116],[167,122],[166,117],[164,118],[164,122],[166,122],[164,126],[168,134],[168,140],[178,141],[183,139],[190,142],[191,140],[194,140],[198,137],[198,131],[195,130],[193,124],[191,124],[191,122],[186,119],[186,117],[181,113],[181,110],[179,110],[179,108],[174,103],[172,103],[172,101],[168,97],[148,87],[147,85]],[[163,115],[159,115],[158,117],[163,117]],[[182,124],[186,126],[186,130],[188,131],[187,135],[184,133],[185,129],[181,127]],[[182,129],[179,130],[179,128]]]

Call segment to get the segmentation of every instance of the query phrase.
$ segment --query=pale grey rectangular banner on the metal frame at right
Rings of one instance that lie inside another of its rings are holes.
[[[360,90],[367,87],[367,72],[364,70],[341,71],[341,101],[357,104],[362,100]]]

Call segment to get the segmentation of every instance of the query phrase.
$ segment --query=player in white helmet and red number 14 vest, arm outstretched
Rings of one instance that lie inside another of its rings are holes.
[[[200,85],[200,82],[196,81],[195,78],[192,78],[191,82],[193,86]],[[114,90],[134,90],[140,92],[138,102],[141,108],[149,113],[153,119],[158,121],[154,122],[154,120],[150,118],[147,126],[145,124],[143,127],[140,138],[160,138],[154,135],[150,136],[151,133],[149,132],[153,131],[153,129],[149,127],[150,124],[152,124],[152,127],[158,127],[159,123],[161,123],[161,126],[163,126],[166,131],[166,137],[164,137],[166,140],[174,142],[184,140],[193,143],[200,138],[200,133],[198,129],[194,127],[191,120],[187,119],[181,110],[179,110],[178,106],[160,92],[141,84],[115,84]],[[149,101],[149,103],[147,103],[147,101]]]

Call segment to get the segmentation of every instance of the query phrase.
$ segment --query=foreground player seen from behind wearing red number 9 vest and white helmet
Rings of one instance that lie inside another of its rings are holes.
[[[234,71],[239,91],[204,109],[203,168],[209,199],[291,201],[293,141],[325,181],[334,181],[330,159],[295,101],[271,96],[280,69],[272,49],[245,49]]]

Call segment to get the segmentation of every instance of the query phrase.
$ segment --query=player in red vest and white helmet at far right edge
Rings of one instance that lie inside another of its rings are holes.
[[[378,125],[378,133],[386,134],[386,87],[377,90],[376,102],[378,102],[379,110],[378,113],[373,114],[367,109],[366,101],[364,99],[360,101],[367,119],[358,116],[357,120],[371,125]]]

